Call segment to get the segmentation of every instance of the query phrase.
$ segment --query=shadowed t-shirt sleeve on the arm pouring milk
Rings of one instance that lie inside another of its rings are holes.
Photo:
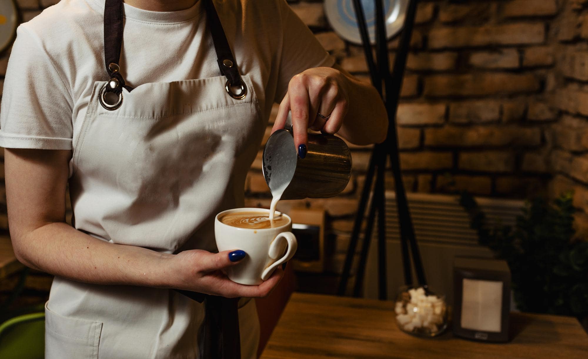
[[[278,2],[282,16],[282,49],[275,102],[280,102],[288,92],[288,83],[292,76],[306,69],[330,67],[335,63],[335,59],[320,45],[315,35],[286,1]]]

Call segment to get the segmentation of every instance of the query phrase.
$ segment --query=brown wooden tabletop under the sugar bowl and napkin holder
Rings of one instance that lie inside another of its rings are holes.
[[[260,313],[262,316],[263,313]],[[262,358],[586,358],[588,334],[573,317],[512,313],[512,341],[432,339],[396,327],[392,301],[293,293]]]

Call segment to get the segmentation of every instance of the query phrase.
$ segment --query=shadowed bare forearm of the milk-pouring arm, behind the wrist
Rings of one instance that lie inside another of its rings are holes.
[[[339,135],[356,145],[380,143],[386,139],[388,119],[386,108],[377,90],[345,73],[349,95],[348,113]]]

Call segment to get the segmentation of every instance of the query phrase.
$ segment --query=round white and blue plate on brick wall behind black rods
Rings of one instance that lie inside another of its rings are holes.
[[[383,0],[386,36],[391,38],[402,29],[408,0]],[[376,7],[374,0],[361,0],[368,25],[370,42],[376,43]],[[325,0],[325,14],[333,30],[347,41],[361,44],[353,0]]]

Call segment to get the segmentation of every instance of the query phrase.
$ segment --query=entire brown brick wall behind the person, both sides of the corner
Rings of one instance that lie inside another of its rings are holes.
[[[54,2],[18,0],[22,19]],[[332,31],[322,1],[289,3],[343,68],[369,81],[362,47]],[[574,189],[577,224],[588,228],[587,6],[588,0],[420,1],[397,116],[407,190],[527,197]],[[397,38],[389,42],[390,58],[397,45]],[[0,84],[7,56],[0,57]],[[279,205],[286,212],[326,209],[327,270],[301,274],[308,290],[332,291],[342,268],[371,148],[350,147],[352,180],[340,196]],[[260,154],[246,202],[268,207]],[[391,176],[386,186],[393,188]],[[6,229],[5,206],[0,212]]]

